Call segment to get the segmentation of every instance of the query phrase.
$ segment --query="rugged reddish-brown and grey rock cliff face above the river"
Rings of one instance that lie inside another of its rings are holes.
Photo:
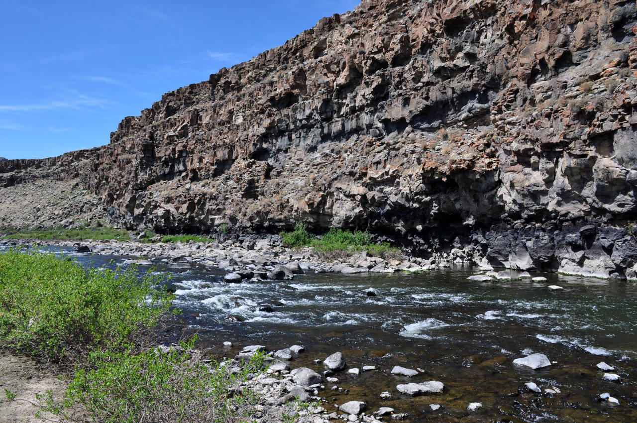
[[[304,220],[635,278],[636,24],[634,1],[364,0],[164,94],[79,175],[128,227]]]

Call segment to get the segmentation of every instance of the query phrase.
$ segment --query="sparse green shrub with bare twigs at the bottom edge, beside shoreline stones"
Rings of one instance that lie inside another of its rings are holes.
[[[96,368],[78,371],[62,405],[50,410],[64,413],[80,403],[98,423],[230,423],[261,417],[261,395],[241,384],[263,371],[264,354],[233,374],[231,366],[205,364],[193,346],[191,340],[171,352],[94,354]]]

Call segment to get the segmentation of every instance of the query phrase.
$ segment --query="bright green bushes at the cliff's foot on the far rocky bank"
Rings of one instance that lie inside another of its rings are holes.
[[[358,252],[366,251],[369,255],[383,259],[399,259],[402,253],[399,248],[389,243],[373,243],[373,234],[368,231],[348,231],[330,229],[321,239],[307,230],[307,225],[297,223],[292,232],[280,233],[285,247],[301,248],[311,246],[323,259],[339,259]]]

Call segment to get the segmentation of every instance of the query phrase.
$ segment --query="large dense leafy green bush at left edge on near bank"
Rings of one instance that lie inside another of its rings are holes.
[[[158,276],[84,268],[54,254],[0,254],[0,345],[54,361],[125,348],[169,313]]]

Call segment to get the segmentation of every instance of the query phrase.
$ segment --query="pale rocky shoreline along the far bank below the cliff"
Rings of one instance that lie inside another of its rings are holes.
[[[492,266],[486,260],[479,263],[475,261],[448,261],[444,259],[423,259],[421,257],[404,254],[403,259],[382,259],[372,257],[366,252],[356,253],[350,257],[343,257],[332,262],[320,259],[311,247],[287,248],[283,247],[280,236],[247,235],[238,236],[234,240],[217,240],[211,242],[182,242],[172,243],[143,243],[138,240],[39,240],[33,238],[0,239],[0,245],[24,246],[24,245],[59,245],[63,247],[88,247],[89,251],[80,252],[101,255],[124,255],[138,257],[138,264],[163,264],[169,268],[187,269],[193,264],[206,267],[216,267],[229,273],[236,271],[258,270],[259,273],[269,273],[279,270],[277,277],[270,279],[292,279],[296,274],[303,273],[396,273],[429,271],[436,268],[448,268],[452,264],[471,266],[473,273],[479,275],[494,269],[515,271],[522,273],[522,269]],[[130,261],[132,263],[134,261]],[[283,274],[281,273],[283,272]],[[255,273],[255,272],[253,272]],[[618,280],[603,273],[590,273],[588,271],[534,271],[533,273],[557,273],[559,275],[582,276],[585,278],[598,278],[603,280]],[[241,274],[240,274],[241,275]],[[241,275],[241,279],[247,278]],[[235,276],[236,277],[236,276]],[[248,278],[252,278],[250,276]],[[263,278],[262,278],[263,279]],[[492,278],[492,282],[497,282]],[[238,279],[236,280],[238,281]],[[619,279],[619,281],[622,281]],[[627,278],[627,282],[637,282],[637,278]],[[227,279],[231,282],[231,279]]]

